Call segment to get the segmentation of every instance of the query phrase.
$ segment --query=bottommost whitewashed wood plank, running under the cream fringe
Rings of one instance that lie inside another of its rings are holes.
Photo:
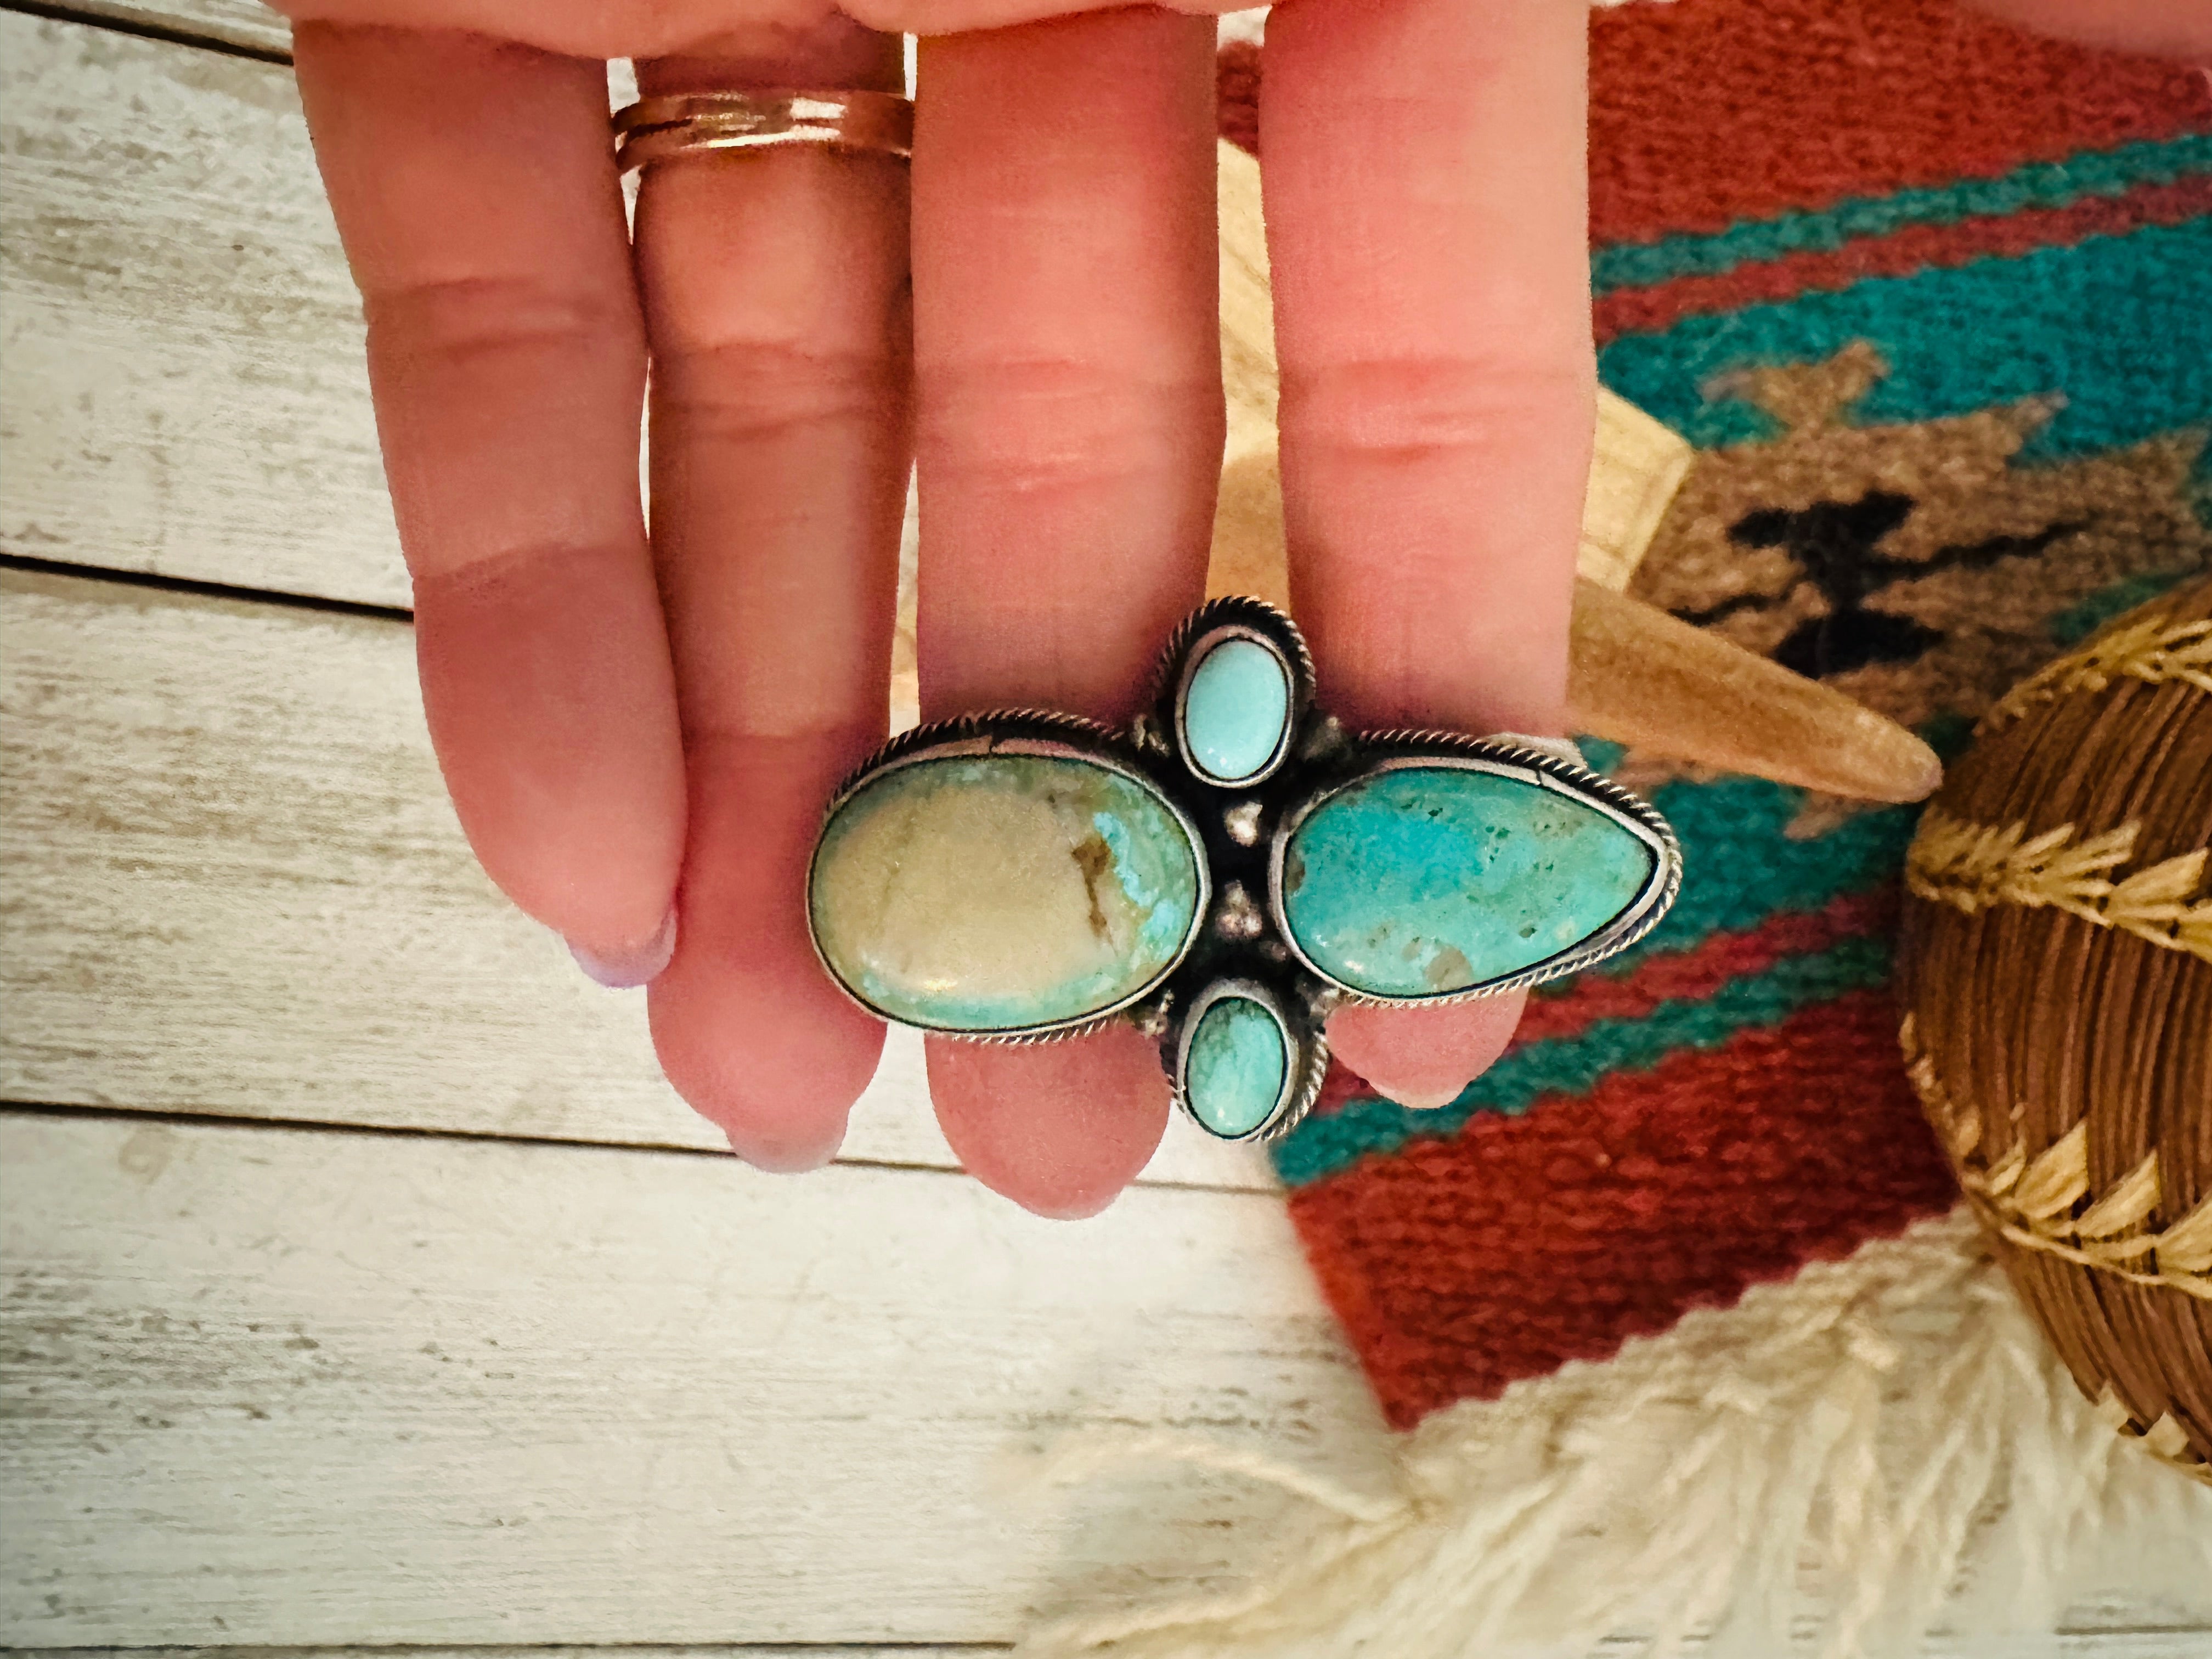
[[[1283,1208],[0,1115],[0,1641],[989,1641],[1234,1575],[1243,1482],[1029,1509],[1064,1431],[1383,1429]],[[1228,1540],[1228,1542],[1225,1542]]]

